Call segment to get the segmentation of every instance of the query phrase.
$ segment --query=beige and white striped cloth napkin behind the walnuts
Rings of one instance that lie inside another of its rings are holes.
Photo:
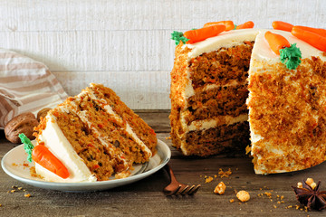
[[[67,97],[42,62],[0,49],[0,128],[19,114],[53,108]]]

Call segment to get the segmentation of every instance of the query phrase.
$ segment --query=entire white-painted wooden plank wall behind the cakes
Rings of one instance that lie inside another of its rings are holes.
[[[326,28],[326,1],[2,0],[0,47],[43,61],[70,95],[101,82],[131,109],[169,109],[170,33],[220,20]]]

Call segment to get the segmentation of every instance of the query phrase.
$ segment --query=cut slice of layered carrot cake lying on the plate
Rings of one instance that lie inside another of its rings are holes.
[[[61,177],[35,161],[36,174],[47,181],[126,177],[133,164],[148,162],[156,153],[154,130],[101,84],[91,83],[79,95],[66,99],[35,129],[37,146],[48,148],[69,174]]]

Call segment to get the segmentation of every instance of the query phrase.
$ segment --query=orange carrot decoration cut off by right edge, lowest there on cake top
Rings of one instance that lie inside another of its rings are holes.
[[[326,52],[326,36],[318,33],[312,33],[297,27],[293,27],[291,33],[298,39],[301,39],[303,42],[307,42],[313,47],[321,50],[321,52]]]

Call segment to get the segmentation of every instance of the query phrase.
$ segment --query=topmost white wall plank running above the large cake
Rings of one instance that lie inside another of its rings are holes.
[[[38,1],[5,0],[0,5],[0,31],[187,30],[207,22],[253,20],[270,27],[274,19],[292,24],[326,27],[322,0],[311,1]],[[254,13],[248,13],[254,12]],[[304,14],[304,15],[302,15]],[[264,19],[262,19],[264,17]]]

